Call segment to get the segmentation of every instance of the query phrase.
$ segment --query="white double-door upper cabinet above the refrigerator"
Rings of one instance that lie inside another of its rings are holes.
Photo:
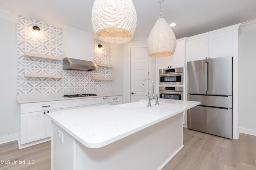
[[[187,41],[187,61],[233,55],[233,32],[215,31],[189,37]]]

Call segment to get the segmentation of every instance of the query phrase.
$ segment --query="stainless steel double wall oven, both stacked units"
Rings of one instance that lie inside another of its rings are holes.
[[[176,85],[183,85],[183,67],[159,70],[159,98],[183,100],[183,86]]]

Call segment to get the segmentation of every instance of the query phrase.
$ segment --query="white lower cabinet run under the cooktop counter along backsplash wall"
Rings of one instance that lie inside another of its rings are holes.
[[[47,113],[104,104],[122,104],[122,96],[20,104],[20,145],[35,145],[52,136],[52,122],[46,116]],[[19,147],[23,148],[20,145]]]

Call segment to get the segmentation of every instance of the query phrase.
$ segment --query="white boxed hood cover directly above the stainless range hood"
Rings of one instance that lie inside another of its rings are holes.
[[[66,56],[68,58],[94,61],[93,34],[66,26]]]

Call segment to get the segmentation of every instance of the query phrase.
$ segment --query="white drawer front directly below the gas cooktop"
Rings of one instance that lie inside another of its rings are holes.
[[[72,99],[68,100],[68,107],[101,105],[101,98],[86,98],[86,99]]]

